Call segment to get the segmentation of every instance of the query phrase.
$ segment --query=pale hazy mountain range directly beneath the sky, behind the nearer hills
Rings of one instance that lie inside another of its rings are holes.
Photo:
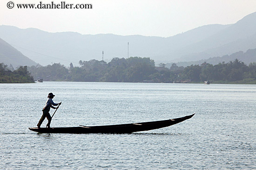
[[[86,28],[85,28],[86,29]],[[41,65],[113,57],[150,57],[156,63],[188,62],[256,48],[256,13],[230,25],[204,25],[172,37],[82,35],[0,25],[0,38]],[[128,46],[129,42],[129,46]],[[129,50],[128,50],[129,49]]]

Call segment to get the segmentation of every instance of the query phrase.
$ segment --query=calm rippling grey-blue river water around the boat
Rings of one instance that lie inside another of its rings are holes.
[[[52,127],[193,118],[132,134],[40,134]],[[51,110],[50,113],[53,113]],[[46,126],[47,120],[42,127]],[[0,169],[256,169],[256,85],[43,82],[0,84]]]

